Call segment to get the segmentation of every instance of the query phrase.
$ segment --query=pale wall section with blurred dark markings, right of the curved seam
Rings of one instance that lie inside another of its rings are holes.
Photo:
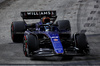
[[[100,0],[83,0],[78,12],[78,30],[87,34],[100,34]]]

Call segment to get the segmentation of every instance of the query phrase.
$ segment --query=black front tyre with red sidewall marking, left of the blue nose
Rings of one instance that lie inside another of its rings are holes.
[[[25,35],[23,51],[26,57],[30,57],[35,50],[39,49],[39,41],[34,35]]]

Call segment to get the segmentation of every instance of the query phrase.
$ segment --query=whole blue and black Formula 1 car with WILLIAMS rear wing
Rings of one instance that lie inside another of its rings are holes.
[[[71,35],[69,20],[55,22],[56,11],[21,12],[23,21],[11,24],[13,42],[23,42],[23,52],[31,56],[63,56],[88,54],[89,44],[84,33]],[[27,24],[27,19],[40,19]]]

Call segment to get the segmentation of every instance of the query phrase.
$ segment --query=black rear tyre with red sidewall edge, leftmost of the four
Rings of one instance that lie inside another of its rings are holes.
[[[13,42],[22,42],[24,31],[26,30],[25,22],[15,21],[11,24],[11,38]]]

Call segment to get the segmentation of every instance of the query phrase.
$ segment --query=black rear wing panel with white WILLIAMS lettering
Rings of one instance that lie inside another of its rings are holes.
[[[26,12],[21,12],[21,17],[23,19],[41,19],[44,16],[54,18],[54,19],[57,18],[56,11],[26,11]]]

